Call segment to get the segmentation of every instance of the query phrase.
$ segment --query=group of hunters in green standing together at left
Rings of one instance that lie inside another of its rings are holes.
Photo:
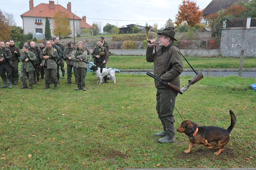
[[[46,45],[46,47],[45,47]],[[103,53],[102,53],[103,52]],[[100,37],[97,42],[97,47],[92,52],[94,58],[94,64],[100,68],[106,68],[108,62],[109,48],[108,44],[104,41],[104,37]],[[0,76],[4,85],[0,88],[8,87],[12,89],[12,84],[16,85],[20,78],[23,86],[20,89],[33,89],[33,84],[40,84],[39,79],[44,79],[45,87],[43,89],[50,88],[50,84],[54,84],[54,89],[57,89],[57,84],[60,83],[60,72],[62,72],[61,79],[65,79],[64,60],[67,64],[67,84],[71,84],[72,69],[75,74],[75,81],[77,84],[76,90],[85,88],[85,77],[87,72],[88,55],[90,51],[84,46],[82,41],[77,43],[77,47],[72,43],[68,43],[65,48],[63,44],[60,44],[60,39],[50,38],[49,41],[40,42],[39,47],[35,42],[25,42],[22,51],[15,46],[14,41],[6,42],[0,40]],[[19,77],[18,65],[21,65],[21,73]],[[41,75],[41,77],[40,77]],[[29,85],[27,84],[27,79]],[[107,77],[104,77],[104,81],[108,82]]]

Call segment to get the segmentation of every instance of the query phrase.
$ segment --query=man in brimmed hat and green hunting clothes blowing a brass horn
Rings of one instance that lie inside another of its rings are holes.
[[[148,43],[146,59],[148,62],[154,62],[154,74],[164,81],[180,87],[180,73],[183,71],[183,63],[181,59],[180,50],[173,45],[175,31],[171,28],[165,28],[160,35],[159,41],[162,48],[153,53],[155,40],[150,40]],[[161,120],[164,131],[156,133],[156,136],[162,136],[158,139],[159,143],[174,143],[175,142],[175,128],[174,115],[172,114],[175,98],[178,92],[167,88],[159,81],[155,80],[156,86],[156,111],[158,118]]]

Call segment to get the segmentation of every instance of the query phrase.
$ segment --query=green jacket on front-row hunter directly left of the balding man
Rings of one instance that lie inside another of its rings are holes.
[[[28,57],[30,58],[30,60],[26,62],[25,59]],[[31,62],[35,64],[36,60],[37,60],[36,54],[31,51],[28,51],[28,53],[25,53],[25,52],[21,53],[20,61],[22,62],[22,65],[20,70],[24,71],[25,69],[26,72],[34,72],[36,69]]]

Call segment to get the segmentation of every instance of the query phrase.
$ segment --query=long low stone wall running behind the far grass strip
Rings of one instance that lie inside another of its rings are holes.
[[[146,50],[109,50],[117,56],[146,56]],[[220,56],[220,50],[180,50],[181,53],[189,57],[217,57]],[[92,52],[92,49],[90,50]]]

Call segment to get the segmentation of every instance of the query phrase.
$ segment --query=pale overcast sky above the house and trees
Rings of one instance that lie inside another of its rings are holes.
[[[195,0],[200,9],[204,9],[212,0]],[[158,24],[158,28],[164,27],[168,18],[175,19],[178,6],[182,0],[55,0],[55,4],[67,8],[71,2],[71,11],[78,17],[86,16],[86,22],[92,25],[93,21],[102,22],[102,28],[106,23],[118,27],[128,24],[145,26]],[[49,0],[34,0],[34,7],[40,3],[49,3]],[[11,12],[17,26],[22,27],[20,15],[29,10],[29,0],[0,0],[0,9]],[[106,20],[101,20],[106,19]],[[112,20],[109,20],[112,19]],[[124,20],[124,21],[122,21]]]

